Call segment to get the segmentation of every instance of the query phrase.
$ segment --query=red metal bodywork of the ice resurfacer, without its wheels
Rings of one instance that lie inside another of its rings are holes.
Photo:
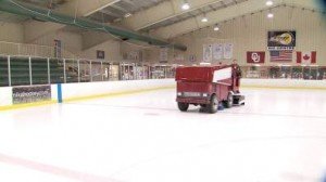
[[[226,79],[213,81],[214,72],[231,67],[231,76]],[[216,94],[218,101],[227,100],[230,91],[239,92],[239,67],[228,66],[191,66],[176,69],[177,93],[176,101],[189,104],[209,104],[212,94]],[[208,94],[208,96],[203,96]]]

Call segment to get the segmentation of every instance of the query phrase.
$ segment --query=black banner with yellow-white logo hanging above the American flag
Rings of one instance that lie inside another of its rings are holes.
[[[296,31],[268,31],[268,50],[293,50]]]

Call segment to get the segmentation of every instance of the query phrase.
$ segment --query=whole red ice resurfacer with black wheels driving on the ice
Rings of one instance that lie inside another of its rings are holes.
[[[176,69],[178,108],[187,112],[189,105],[200,105],[202,112],[216,113],[218,105],[230,108],[244,105],[240,94],[239,65],[189,66]]]

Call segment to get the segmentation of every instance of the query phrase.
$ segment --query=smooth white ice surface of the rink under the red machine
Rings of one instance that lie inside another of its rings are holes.
[[[1,182],[322,182],[326,91],[242,89],[180,113],[175,90],[0,113]]]

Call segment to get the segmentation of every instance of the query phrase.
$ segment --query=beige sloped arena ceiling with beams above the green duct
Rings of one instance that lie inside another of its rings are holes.
[[[279,5],[318,10],[314,0],[20,0],[61,13],[170,39],[216,23]],[[189,9],[181,5],[188,2]],[[322,10],[321,10],[322,11]],[[208,22],[201,20],[208,17]],[[25,17],[0,12],[0,21],[25,22]],[[61,27],[62,28],[62,27]],[[66,29],[78,31],[76,28]],[[80,30],[83,31],[83,30]]]

